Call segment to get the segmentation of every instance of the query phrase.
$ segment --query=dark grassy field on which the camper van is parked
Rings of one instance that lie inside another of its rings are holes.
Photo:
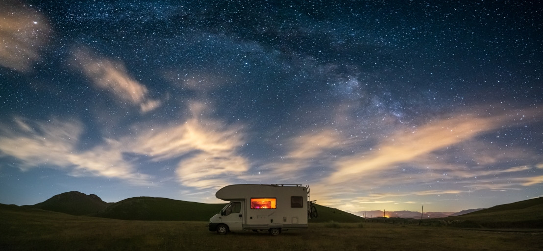
[[[384,223],[310,223],[279,236],[218,235],[198,221],[124,221],[0,210],[0,250],[543,250],[543,234]]]

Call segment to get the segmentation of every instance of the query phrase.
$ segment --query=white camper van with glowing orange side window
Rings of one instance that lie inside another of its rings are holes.
[[[228,185],[215,196],[230,202],[209,220],[209,230],[219,234],[254,230],[278,235],[289,229],[307,229],[308,218],[317,217],[308,185]]]

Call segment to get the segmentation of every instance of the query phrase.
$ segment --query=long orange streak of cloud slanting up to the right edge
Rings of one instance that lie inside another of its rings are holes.
[[[526,111],[531,117],[539,110]],[[357,180],[369,171],[383,171],[407,162],[417,162],[421,156],[471,140],[502,126],[516,125],[519,115],[500,114],[491,117],[459,114],[453,118],[432,121],[414,130],[402,130],[387,137],[373,150],[341,158],[327,183]],[[522,117],[520,117],[522,118]]]

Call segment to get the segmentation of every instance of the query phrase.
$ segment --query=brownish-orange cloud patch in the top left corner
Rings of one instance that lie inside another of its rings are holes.
[[[42,47],[51,33],[46,18],[36,10],[16,2],[0,9],[0,65],[27,72],[41,60]]]

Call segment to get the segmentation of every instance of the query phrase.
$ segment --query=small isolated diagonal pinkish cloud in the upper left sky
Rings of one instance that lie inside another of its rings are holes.
[[[89,49],[73,49],[72,54],[73,64],[83,70],[96,87],[108,90],[119,101],[140,106],[141,112],[160,106],[160,101],[149,98],[147,87],[128,73],[123,62],[93,55]]]

